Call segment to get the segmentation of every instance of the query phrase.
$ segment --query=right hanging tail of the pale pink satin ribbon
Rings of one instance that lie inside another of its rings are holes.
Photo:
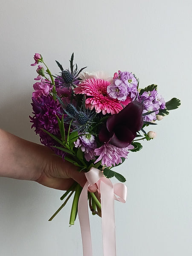
[[[116,256],[114,192],[110,180],[101,179],[103,255]]]

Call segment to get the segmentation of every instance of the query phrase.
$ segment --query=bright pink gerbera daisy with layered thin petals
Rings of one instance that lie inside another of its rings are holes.
[[[109,81],[103,79],[85,79],[74,91],[76,94],[88,96],[85,105],[90,110],[95,108],[96,113],[101,111],[103,115],[106,113],[119,113],[122,110],[122,105],[117,99],[112,99],[108,96],[107,87],[109,84]]]

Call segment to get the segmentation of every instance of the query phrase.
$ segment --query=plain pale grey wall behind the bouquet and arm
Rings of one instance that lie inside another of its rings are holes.
[[[1,0],[0,127],[38,143],[31,130],[35,52],[52,73],[74,52],[79,67],[134,72],[140,87],[158,84],[181,106],[150,127],[155,140],[116,169],[126,204],[115,202],[117,256],[192,255],[191,0]],[[35,182],[0,178],[1,256],[81,256],[71,201],[52,221],[63,193]],[[91,216],[94,256],[102,255],[101,220]]]

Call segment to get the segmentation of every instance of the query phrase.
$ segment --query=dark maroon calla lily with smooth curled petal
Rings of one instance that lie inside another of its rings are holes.
[[[142,112],[141,103],[129,103],[122,111],[108,118],[99,132],[99,140],[109,142],[118,148],[128,147],[143,126]]]

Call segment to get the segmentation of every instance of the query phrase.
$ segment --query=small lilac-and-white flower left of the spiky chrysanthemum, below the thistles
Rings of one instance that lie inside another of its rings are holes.
[[[91,134],[80,136],[75,142],[75,147],[80,148],[84,152],[84,158],[87,161],[95,159],[94,150],[96,148],[95,137]]]

